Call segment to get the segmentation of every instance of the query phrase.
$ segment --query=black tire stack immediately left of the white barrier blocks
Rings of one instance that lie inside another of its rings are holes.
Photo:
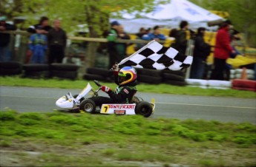
[[[185,75],[183,71],[163,70],[163,83],[186,86]]]

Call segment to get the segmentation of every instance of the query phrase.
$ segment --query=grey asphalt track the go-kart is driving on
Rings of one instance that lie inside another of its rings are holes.
[[[48,89],[0,86],[0,109],[18,112],[52,112],[58,109],[55,101],[71,92],[78,94],[82,89]],[[105,95],[102,92],[102,95]],[[216,98],[191,95],[166,95],[138,92],[144,100],[156,100],[153,117],[171,117],[181,120],[203,119],[220,122],[256,124],[256,98]]]

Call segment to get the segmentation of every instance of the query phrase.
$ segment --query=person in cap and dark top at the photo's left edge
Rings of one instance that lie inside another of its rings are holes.
[[[16,26],[6,23],[6,16],[0,16],[0,61],[10,61],[11,55],[8,49],[10,34],[1,33],[6,30],[16,30]]]

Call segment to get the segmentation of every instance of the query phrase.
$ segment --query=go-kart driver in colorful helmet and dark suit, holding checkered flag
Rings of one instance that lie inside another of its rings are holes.
[[[92,97],[96,106],[102,106],[103,103],[131,103],[132,98],[137,92],[137,72],[134,67],[123,67],[119,70],[117,64],[114,64],[115,83],[118,85],[115,91],[108,86],[102,86],[103,92],[108,93],[108,97]]]

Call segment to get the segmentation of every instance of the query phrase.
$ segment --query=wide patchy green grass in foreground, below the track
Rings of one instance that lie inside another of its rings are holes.
[[[251,123],[1,111],[0,127],[0,149],[20,166],[256,165]]]

